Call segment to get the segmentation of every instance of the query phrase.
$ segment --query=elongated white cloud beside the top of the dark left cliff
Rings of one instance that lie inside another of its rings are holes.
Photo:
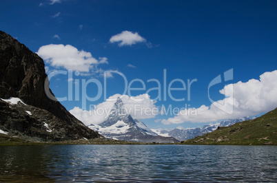
[[[63,67],[80,72],[89,72],[94,65],[107,63],[107,58],[96,59],[90,52],[80,51],[72,45],[43,45],[37,54],[52,67]]]

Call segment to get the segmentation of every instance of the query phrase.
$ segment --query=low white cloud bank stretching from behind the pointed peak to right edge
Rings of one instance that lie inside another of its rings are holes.
[[[234,95],[228,96],[230,92],[228,90],[234,89]],[[202,105],[196,109],[196,115],[182,115],[185,113],[185,109],[178,115],[161,120],[161,109],[156,105],[156,101],[151,100],[148,94],[142,94],[139,96],[121,96],[115,94],[110,96],[105,102],[96,105],[94,109],[83,110],[79,107],[74,107],[70,110],[76,118],[85,123],[85,125],[99,124],[107,119],[109,116],[109,109],[114,106],[115,99],[122,97],[124,107],[133,118],[145,119],[155,118],[155,122],[162,122],[164,125],[181,124],[183,122],[215,122],[218,120],[240,118],[243,116],[255,116],[262,112],[267,112],[277,107],[277,70],[273,72],[265,72],[260,75],[260,79],[251,79],[247,82],[238,82],[234,84],[226,85],[219,91],[221,94],[225,94],[223,100],[218,100],[216,103],[225,103],[224,110],[218,109],[214,104],[210,106]],[[138,100],[139,99],[139,100]],[[143,99],[143,100],[140,100]],[[233,100],[231,102],[231,100]],[[233,106],[230,106],[234,104]],[[233,107],[233,113],[228,114],[225,110]],[[106,109],[105,112],[99,114],[96,109]],[[146,110],[152,110],[148,112]],[[192,108],[190,108],[192,109]],[[154,112],[153,112],[154,111]],[[159,114],[159,117],[156,116]],[[166,118],[166,116],[165,116]]]

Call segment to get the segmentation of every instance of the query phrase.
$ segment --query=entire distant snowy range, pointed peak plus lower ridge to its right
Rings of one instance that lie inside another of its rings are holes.
[[[188,140],[205,133],[215,131],[218,127],[229,127],[236,122],[251,120],[250,117],[222,120],[212,125],[205,125],[202,128],[193,129],[171,129],[158,130],[150,129],[141,120],[136,120],[127,114],[123,107],[121,98],[117,98],[110,116],[100,125],[89,125],[90,129],[98,131],[105,138],[115,140],[128,140],[134,142],[164,142],[171,143]]]

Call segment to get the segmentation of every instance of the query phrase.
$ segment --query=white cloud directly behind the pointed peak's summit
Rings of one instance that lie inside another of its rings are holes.
[[[141,94],[139,96],[126,96],[114,94],[107,98],[107,100],[99,105],[95,105],[93,109],[83,110],[79,107],[74,107],[70,113],[77,119],[81,120],[85,125],[98,125],[107,120],[110,115],[116,98],[121,97],[123,107],[135,119],[154,118],[158,114],[158,108],[155,101],[150,99],[148,94]]]

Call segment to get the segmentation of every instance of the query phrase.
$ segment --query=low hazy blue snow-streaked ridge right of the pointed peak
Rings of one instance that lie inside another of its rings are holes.
[[[216,122],[216,124],[212,125],[205,125],[202,128],[192,128],[192,129],[172,129],[172,130],[156,130],[152,129],[155,133],[160,136],[165,137],[174,137],[179,141],[188,140],[195,138],[197,136],[202,136],[205,133],[210,133],[215,131],[218,127],[229,127],[234,125],[236,122],[242,122],[245,120],[251,120],[250,117],[243,117],[243,118],[236,118],[236,119],[229,119],[229,120],[222,120],[220,122]]]

